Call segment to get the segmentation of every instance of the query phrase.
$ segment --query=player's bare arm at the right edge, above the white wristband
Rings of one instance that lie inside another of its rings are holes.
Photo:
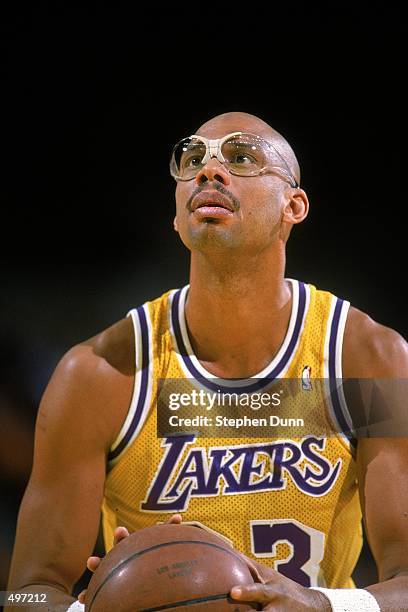
[[[408,390],[407,343],[394,330],[356,309],[348,317],[344,355],[345,378],[378,380],[380,384],[387,379],[406,379]],[[391,383],[384,394],[393,412],[390,418],[395,415],[397,420],[401,407],[392,402],[399,403],[401,394],[392,397]],[[406,402],[408,406],[408,397]],[[408,415],[405,406],[403,409]],[[395,436],[395,430],[393,433]],[[365,529],[380,580],[367,590],[382,612],[408,610],[408,439],[360,437],[357,469]]]

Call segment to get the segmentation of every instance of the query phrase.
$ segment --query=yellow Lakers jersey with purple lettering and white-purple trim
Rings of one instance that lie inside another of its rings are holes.
[[[112,445],[102,521],[113,531],[166,521],[180,512],[228,538],[250,558],[304,586],[353,587],[362,546],[350,415],[341,388],[319,406],[301,399],[311,430],[264,428],[259,437],[200,436],[197,427],[158,437],[159,381],[209,393],[259,393],[290,379],[341,379],[349,303],[288,279],[292,312],[272,362],[245,381],[215,378],[194,355],[184,305],[188,286],[130,311],[136,374],[131,405]],[[173,386],[174,389],[174,386]],[[301,396],[303,398],[303,396]],[[220,430],[221,431],[221,430]],[[257,430],[258,431],[258,430]]]

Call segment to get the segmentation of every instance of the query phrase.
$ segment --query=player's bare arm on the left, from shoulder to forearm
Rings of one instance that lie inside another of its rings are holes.
[[[115,341],[129,331],[120,322],[71,349],[41,401],[8,589],[46,593],[50,610],[72,603],[97,538],[106,455],[133,383],[130,352]]]

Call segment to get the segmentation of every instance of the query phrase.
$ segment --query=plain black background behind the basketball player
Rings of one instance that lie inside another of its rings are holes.
[[[168,161],[201,122],[243,110],[287,137],[311,202],[287,275],[407,335],[402,9],[149,8],[2,9],[0,590],[58,359],[187,281]]]

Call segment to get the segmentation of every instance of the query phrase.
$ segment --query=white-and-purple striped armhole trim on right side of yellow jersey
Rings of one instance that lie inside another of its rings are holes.
[[[332,296],[324,347],[324,378],[330,417],[347,448],[354,452],[353,422],[343,390],[343,339],[350,302]]]

